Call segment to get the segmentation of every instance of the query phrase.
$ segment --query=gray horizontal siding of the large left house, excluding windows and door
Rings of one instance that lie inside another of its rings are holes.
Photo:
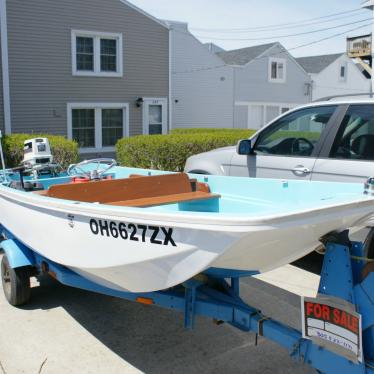
[[[119,0],[7,4],[13,132],[66,135],[68,102],[123,102],[130,104],[130,135],[142,133],[135,99],[168,97],[166,28]],[[122,33],[124,76],[72,76],[72,29]]]

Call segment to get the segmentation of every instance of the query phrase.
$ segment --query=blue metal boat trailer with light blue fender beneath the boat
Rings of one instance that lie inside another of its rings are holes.
[[[256,342],[257,336],[270,339],[286,348],[292,359],[321,373],[374,374],[374,271],[372,263],[368,263],[370,260],[364,258],[363,244],[348,241],[348,232],[330,237],[325,244],[319,297],[354,305],[355,312],[361,316],[361,360],[352,360],[339,350],[316,343],[303,336],[301,331],[271,319],[245,303],[240,298],[239,281],[241,277],[253,274],[208,269],[172,289],[124,292],[98,285],[40,256],[0,225],[1,233],[4,240],[0,248],[12,269],[34,269],[33,274],[48,273],[67,286],[182,312],[186,328],[193,328],[196,316],[212,318],[217,324],[228,323],[242,331],[254,332]]]

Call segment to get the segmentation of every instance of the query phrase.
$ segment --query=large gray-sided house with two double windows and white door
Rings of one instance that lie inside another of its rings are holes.
[[[0,0],[0,129],[113,151],[168,130],[169,30],[124,0]]]

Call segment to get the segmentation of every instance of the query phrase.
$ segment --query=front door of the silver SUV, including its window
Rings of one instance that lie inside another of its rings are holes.
[[[235,153],[230,175],[309,180],[336,106],[300,109],[264,128],[250,156]]]

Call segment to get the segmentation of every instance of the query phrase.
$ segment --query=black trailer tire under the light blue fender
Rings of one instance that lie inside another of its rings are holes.
[[[1,261],[1,280],[9,304],[19,306],[29,301],[31,295],[29,267],[12,269],[7,256],[4,255]]]

